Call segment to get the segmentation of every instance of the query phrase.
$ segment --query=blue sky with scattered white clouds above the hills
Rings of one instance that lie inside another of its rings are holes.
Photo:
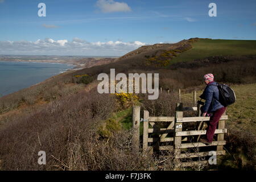
[[[0,0],[0,54],[121,56],[194,37],[255,40],[255,8],[254,0]]]

